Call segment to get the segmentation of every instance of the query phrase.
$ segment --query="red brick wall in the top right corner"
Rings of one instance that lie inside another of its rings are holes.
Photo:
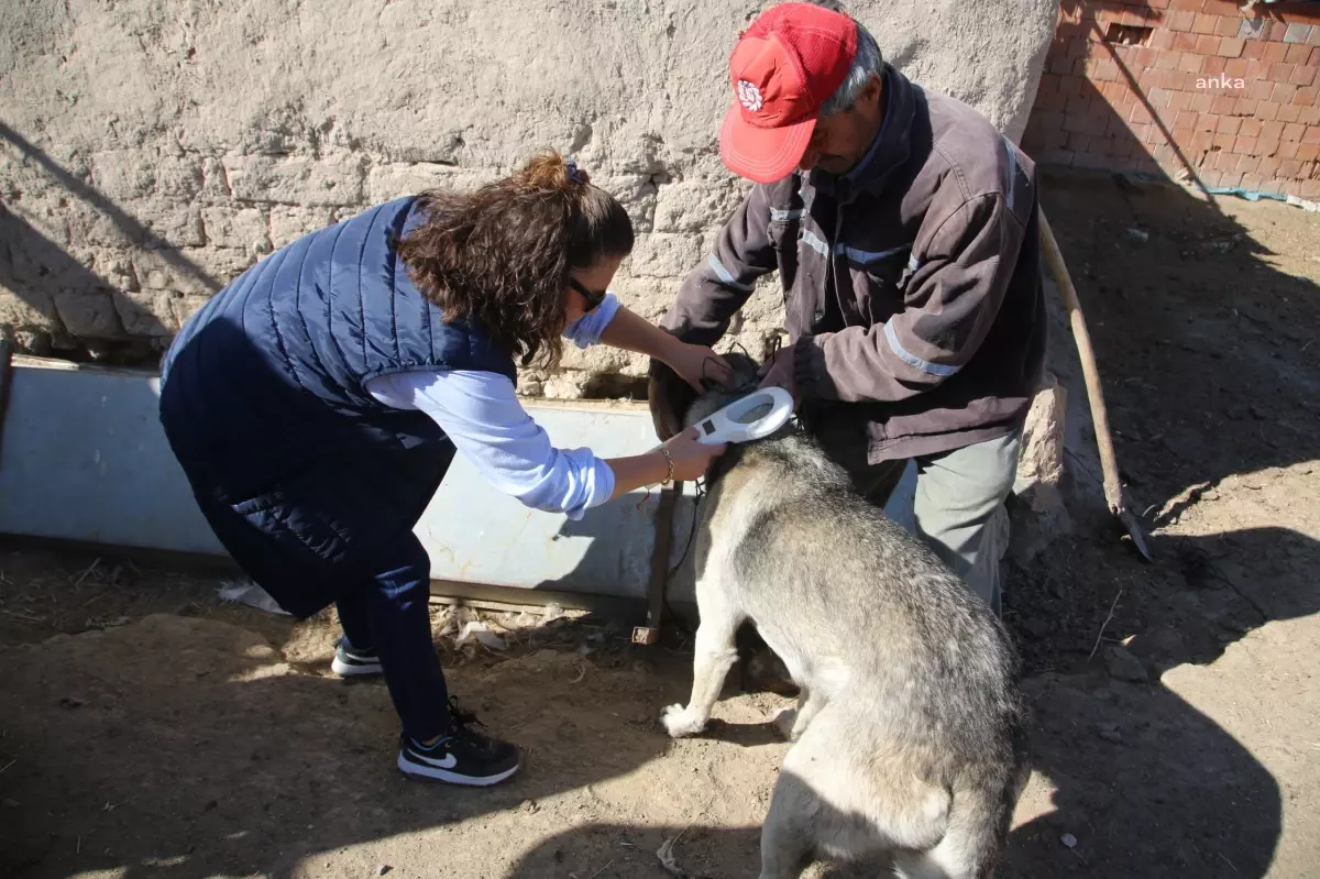
[[[1064,0],[1023,149],[1320,198],[1320,4]]]

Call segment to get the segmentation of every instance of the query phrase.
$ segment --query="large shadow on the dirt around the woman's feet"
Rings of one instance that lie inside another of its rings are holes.
[[[465,707],[527,748],[520,776],[470,791],[409,781],[379,681],[281,660],[246,628],[173,615],[0,651],[13,755],[0,874],[290,875],[318,854],[486,814],[532,822],[524,804],[631,772],[668,746],[655,723],[675,696],[664,680],[546,651],[449,669]]]

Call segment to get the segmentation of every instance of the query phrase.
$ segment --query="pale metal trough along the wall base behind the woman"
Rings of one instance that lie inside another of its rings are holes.
[[[8,362],[0,351],[0,370]],[[165,442],[156,374],[36,358],[13,359],[7,372],[0,533],[224,558]],[[642,404],[525,407],[560,447],[614,457],[656,442]],[[912,487],[909,472],[888,509],[909,528]],[[677,603],[692,601],[694,509],[694,487],[685,484],[664,495],[632,492],[570,521],[495,491],[459,455],[416,533],[438,597],[578,607],[645,602],[638,635],[645,640],[667,593]]]

